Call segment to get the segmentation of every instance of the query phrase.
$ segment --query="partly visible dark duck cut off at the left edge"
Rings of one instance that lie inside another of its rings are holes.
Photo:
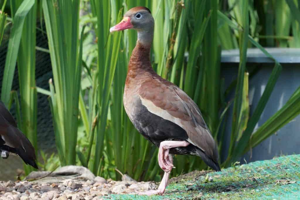
[[[35,149],[26,136],[18,129],[16,121],[0,101],[0,153],[7,159],[9,153],[20,156],[26,164],[38,169],[35,163]]]

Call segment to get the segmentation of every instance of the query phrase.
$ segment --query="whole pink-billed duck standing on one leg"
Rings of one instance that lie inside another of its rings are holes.
[[[173,168],[171,154],[196,155],[216,171],[218,150],[198,106],[182,89],[164,80],[151,67],[154,19],[146,7],[135,7],[110,32],[137,30],[137,45],[128,64],[123,103],[136,129],[159,147],[158,163],[165,171],[157,190],[162,195]]]

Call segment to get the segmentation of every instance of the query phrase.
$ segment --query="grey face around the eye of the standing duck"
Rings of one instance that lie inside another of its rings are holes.
[[[153,29],[154,19],[146,10],[137,12],[127,12],[124,17],[130,17],[130,22],[134,26],[133,29]]]

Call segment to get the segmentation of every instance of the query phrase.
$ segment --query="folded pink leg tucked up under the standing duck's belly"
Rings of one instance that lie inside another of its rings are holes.
[[[162,170],[167,173],[170,173],[172,168],[174,167],[173,162],[170,162],[169,150],[174,147],[186,147],[190,143],[187,141],[162,141],[159,145],[158,151],[158,164]]]

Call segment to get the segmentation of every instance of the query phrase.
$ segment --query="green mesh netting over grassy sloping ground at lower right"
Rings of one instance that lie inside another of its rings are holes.
[[[213,180],[208,181],[208,177]],[[163,196],[109,195],[110,199],[300,199],[300,155],[234,166],[167,186]]]

